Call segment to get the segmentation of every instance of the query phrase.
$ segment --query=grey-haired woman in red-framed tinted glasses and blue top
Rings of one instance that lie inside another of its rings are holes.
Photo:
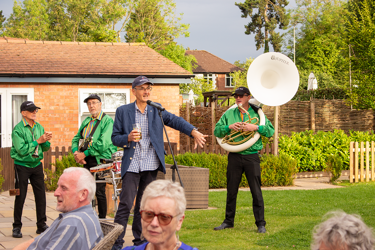
[[[141,238],[148,242],[123,250],[197,250],[178,239],[186,209],[184,190],[179,183],[151,182],[144,190],[140,207]]]

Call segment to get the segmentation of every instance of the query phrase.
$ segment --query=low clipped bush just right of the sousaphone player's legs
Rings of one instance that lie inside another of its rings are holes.
[[[294,183],[293,175],[298,172],[297,161],[286,154],[262,156],[260,168],[263,187],[291,186]]]

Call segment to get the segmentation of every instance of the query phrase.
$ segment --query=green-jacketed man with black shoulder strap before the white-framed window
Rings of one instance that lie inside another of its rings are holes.
[[[97,94],[90,94],[83,102],[87,104],[91,115],[83,120],[77,135],[74,136],[72,151],[76,162],[90,171],[90,168],[99,164],[100,158],[110,159],[117,147],[111,141],[113,120],[102,111],[101,98]],[[107,216],[106,184],[96,183],[99,219],[105,219]]]

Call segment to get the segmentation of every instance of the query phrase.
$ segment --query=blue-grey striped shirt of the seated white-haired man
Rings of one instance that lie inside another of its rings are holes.
[[[52,225],[34,239],[27,250],[90,250],[103,238],[91,204],[59,214]]]

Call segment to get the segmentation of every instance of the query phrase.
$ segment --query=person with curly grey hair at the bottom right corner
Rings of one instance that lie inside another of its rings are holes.
[[[357,215],[333,212],[315,226],[312,250],[374,250],[374,235]]]

